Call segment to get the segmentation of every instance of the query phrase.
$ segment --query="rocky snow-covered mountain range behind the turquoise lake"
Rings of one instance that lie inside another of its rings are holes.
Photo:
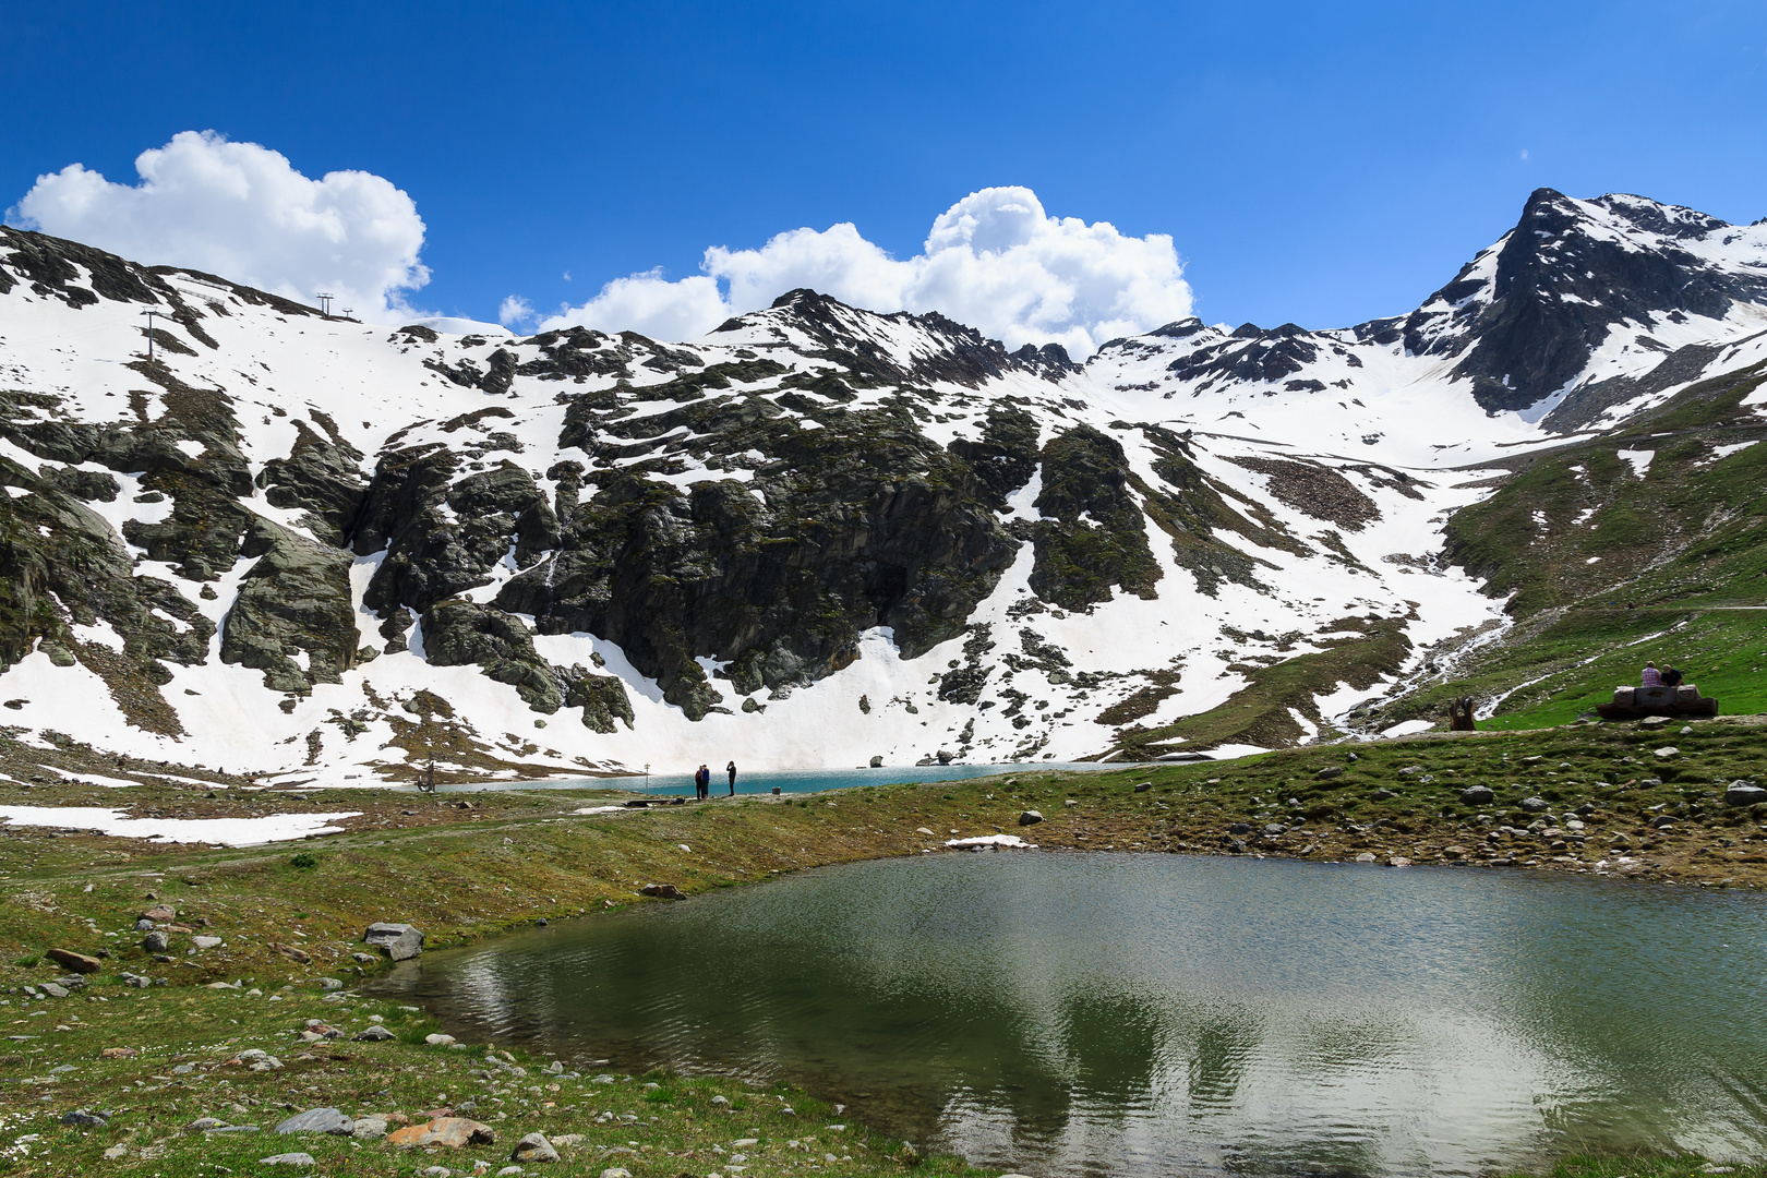
[[[327,781],[1292,744],[1502,632],[1442,537],[1518,456],[1760,359],[1767,226],[1544,189],[1408,316],[1085,366],[815,291],[389,332],[0,230],[0,715]]]

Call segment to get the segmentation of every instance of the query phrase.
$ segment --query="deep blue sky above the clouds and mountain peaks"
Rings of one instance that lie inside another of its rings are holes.
[[[1414,307],[1537,185],[1767,215],[1767,5],[7,4],[0,205],[180,131],[415,201],[413,306],[583,304],[990,185],[1166,233],[1210,321]],[[569,279],[564,276],[569,272]]]

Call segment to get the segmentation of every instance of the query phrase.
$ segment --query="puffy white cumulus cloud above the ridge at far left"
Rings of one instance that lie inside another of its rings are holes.
[[[417,205],[383,177],[313,180],[281,152],[214,131],[182,131],[134,170],[131,185],[69,164],[37,177],[14,215],[133,261],[209,270],[311,306],[329,291],[332,307],[369,320],[410,314],[405,293],[429,281]]]

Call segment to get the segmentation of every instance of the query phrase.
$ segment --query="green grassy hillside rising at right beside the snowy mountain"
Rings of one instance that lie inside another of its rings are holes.
[[[1516,625],[1359,717],[1366,728],[1435,721],[1467,694],[1502,698],[1488,728],[1564,724],[1636,682],[1645,659],[1684,668],[1725,714],[1767,710],[1755,669],[1767,659],[1767,611],[1719,609],[1767,602],[1767,447],[1718,454],[1767,438],[1767,422],[1740,406],[1762,380],[1753,366],[1695,385],[1610,434],[1525,459],[1495,495],[1456,512],[1451,556],[1513,595]],[[1622,450],[1652,450],[1649,477]],[[1119,749],[1136,759],[1177,738],[1187,749],[1304,738],[1290,710],[1320,722],[1315,696],[1375,687],[1412,652],[1389,623],[1339,629],[1350,636],[1323,653],[1237,668],[1248,685],[1209,712],[1120,729]]]

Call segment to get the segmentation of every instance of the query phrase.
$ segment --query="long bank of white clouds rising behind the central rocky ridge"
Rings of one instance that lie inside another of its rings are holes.
[[[841,223],[790,230],[760,249],[714,245],[700,268],[677,281],[661,270],[615,279],[587,304],[544,318],[541,328],[581,323],[694,339],[732,314],[809,286],[871,311],[938,311],[1007,348],[1053,341],[1078,359],[1106,339],[1191,314],[1172,237],[1127,237],[1106,221],[1051,217],[1027,187],[970,193],[933,221],[914,258],[891,258]],[[537,318],[518,297],[504,307],[511,327]]]

